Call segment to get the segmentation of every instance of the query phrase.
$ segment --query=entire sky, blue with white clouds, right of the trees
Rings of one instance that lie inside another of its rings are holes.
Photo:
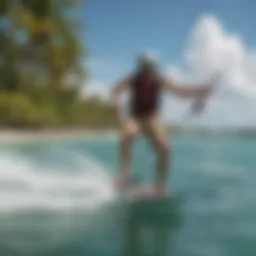
[[[154,52],[163,72],[181,83],[221,80],[198,117],[190,101],[165,96],[166,122],[209,127],[256,126],[256,34],[251,0],[88,0],[81,9],[90,72],[87,93],[108,97],[136,55]]]

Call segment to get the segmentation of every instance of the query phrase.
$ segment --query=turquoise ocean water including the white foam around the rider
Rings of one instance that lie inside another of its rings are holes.
[[[256,255],[256,140],[170,139],[173,201],[131,203],[110,182],[118,141],[0,145],[0,255]],[[141,139],[132,170],[154,179]]]

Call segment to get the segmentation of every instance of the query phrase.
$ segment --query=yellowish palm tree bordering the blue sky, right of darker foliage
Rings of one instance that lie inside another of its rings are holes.
[[[67,75],[81,76],[81,46],[74,26],[64,15],[71,0],[24,0],[23,23],[37,61],[47,63],[49,79],[58,88],[64,86]],[[41,58],[41,59],[40,59]]]

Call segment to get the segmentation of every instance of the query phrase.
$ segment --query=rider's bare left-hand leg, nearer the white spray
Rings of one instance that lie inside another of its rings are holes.
[[[120,142],[120,173],[118,178],[118,186],[120,187],[129,182],[132,142],[139,132],[140,126],[135,119],[129,119],[124,123]]]

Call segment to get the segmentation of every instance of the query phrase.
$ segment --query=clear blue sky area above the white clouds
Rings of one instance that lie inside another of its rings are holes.
[[[161,64],[180,64],[189,31],[204,13],[253,47],[256,2],[250,0],[89,0],[84,6],[84,42],[96,80],[110,82],[129,71],[136,53],[154,50]],[[106,69],[105,63],[109,63]]]

